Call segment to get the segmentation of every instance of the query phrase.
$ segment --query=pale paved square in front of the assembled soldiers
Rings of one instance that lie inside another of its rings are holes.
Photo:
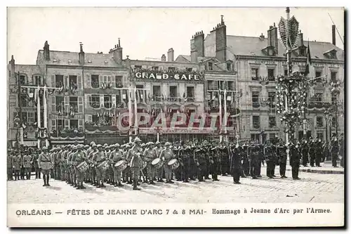
[[[265,174],[265,171],[263,171]],[[279,175],[276,169],[276,175]],[[42,187],[42,180],[8,181],[9,203],[109,203],[109,202],[344,202],[343,174],[300,174],[300,181],[289,178],[253,180],[241,178],[241,184],[232,183],[232,177],[220,176],[220,181],[174,184],[142,183],[140,191],[130,185],[116,188],[76,190],[62,181],[51,180],[51,187]]]

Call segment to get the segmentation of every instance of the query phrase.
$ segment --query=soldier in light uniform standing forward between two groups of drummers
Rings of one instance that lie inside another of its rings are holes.
[[[141,155],[143,154],[143,148],[141,148],[141,140],[136,137],[134,139],[134,146],[131,148],[131,171],[133,176],[133,190],[140,190],[138,188],[140,169],[143,165],[143,160]]]

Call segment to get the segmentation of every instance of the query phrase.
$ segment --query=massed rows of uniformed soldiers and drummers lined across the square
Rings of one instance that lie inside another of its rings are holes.
[[[34,168],[35,178],[43,174],[44,185],[50,186],[49,179],[66,181],[77,189],[84,189],[84,183],[96,188],[133,184],[133,190],[140,190],[140,183],[174,183],[173,180],[218,181],[218,175],[231,175],[235,184],[240,178],[262,177],[261,167],[267,164],[267,178],[277,177],[275,167],[279,166],[281,178],[286,176],[289,160],[293,180],[298,177],[299,167],[321,167],[331,155],[333,167],[341,156],[343,167],[343,145],[333,138],[330,145],[320,139],[310,138],[302,143],[293,140],[285,144],[281,139],[259,144],[230,142],[176,143],[147,142],[136,137],[132,143],[100,145],[62,145],[39,149],[10,150],[7,158],[8,180],[30,179]],[[211,178],[210,178],[211,176]],[[166,181],[164,181],[166,179]]]

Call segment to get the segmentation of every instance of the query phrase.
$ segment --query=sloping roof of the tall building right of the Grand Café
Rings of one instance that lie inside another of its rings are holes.
[[[278,39],[278,56],[284,57],[285,49]],[[343,50],[334,46],[330,42],[323,41],[304,41],[304,45],[310,44],[311,58],[327,59],[324,56],[326,51],[335,49],[338,60],[344,60]],[[262,52],[263,48],[267,47],[267,38],[260,39],[259,37],[242,37],[227,35],[227,47],[236,56],[265,56]],[[293,55],[292,55],[293,56]]]

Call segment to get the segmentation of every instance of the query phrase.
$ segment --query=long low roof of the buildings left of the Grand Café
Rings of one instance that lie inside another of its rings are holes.
[[[43,50],[39,50],[38,56],[43,56]],[[54,62],[55,59],[55,62]],[[69,60],[71,61],[69,63]],[[89,63],[91,61],[91,63]],[[80,65],[79,53],[70,51],[50,51],[49,65]],[[86,67],[123,67],[118,65],[111,54],[84,53],[84,66]]]

